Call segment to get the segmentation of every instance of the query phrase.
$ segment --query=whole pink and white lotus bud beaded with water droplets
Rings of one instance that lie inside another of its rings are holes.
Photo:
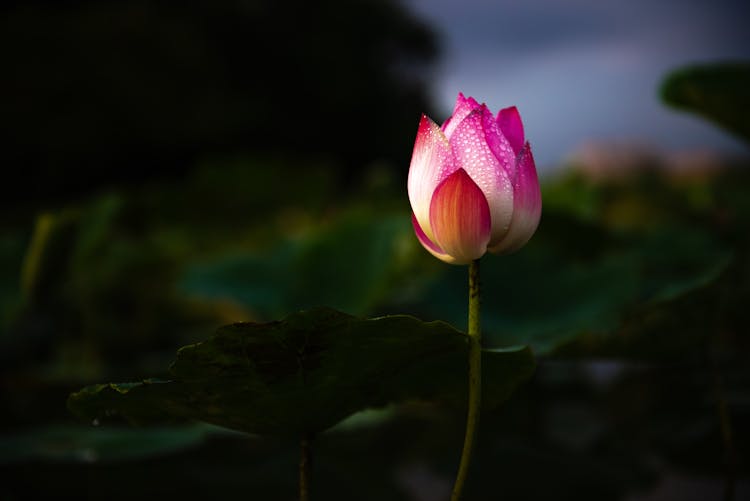
[[[408,189],[417,238],[451,264],[468,264],[488,250],[518,250],[536,231],[542,212],[518,110],[513,106],[493,116],[463,94],[442,126],[422,115]]]

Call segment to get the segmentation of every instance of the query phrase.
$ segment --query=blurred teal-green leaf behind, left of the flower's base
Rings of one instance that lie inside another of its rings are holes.
[[[180,288],[198,299],[230,300],[256,318],[328,305],[366,315],[403,275],[413,243],[408,216],[354,214],[332,228],[265,252],[229,253],[188,267]],[[416,247],[414,247],[416,248]]]

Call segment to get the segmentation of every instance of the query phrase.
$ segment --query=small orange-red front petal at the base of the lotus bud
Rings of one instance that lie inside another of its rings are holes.
[[[487,252],[492,227],[490,207],[465,170],[458,169],[435,190],[430,225],[435,241],[455,264],[470,263]]]

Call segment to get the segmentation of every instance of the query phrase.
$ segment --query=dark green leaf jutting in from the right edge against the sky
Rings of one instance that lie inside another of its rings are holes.
[[[661,96],[750,141],[750,62],[681,68],[663,82]]]

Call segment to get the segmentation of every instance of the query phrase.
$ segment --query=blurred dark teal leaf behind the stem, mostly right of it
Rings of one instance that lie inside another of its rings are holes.
[[[570,235],[567,240],[565,234]],[[626,323],[632,327],[633,319],[676,307],[674,301],[712,286],[731,258],[725,244],[697,228],[674,225],[616,234],[564,217],[547,217],[520,252],[482,259],[485,337],[494,344],[530,345],[537,356],[556,356],[563,348],[570,356],[571,344],[590,356],[612,356],[613,350],[605,347],[609,340],[623,341]],[[444,268],[409,307],[422,317],[457,323],[467,314],[466,304],[456,301],[457,291],[466,288],[466,273],[460,267]],[[712,304],[696,306],[696,314],[711,317],[706,312]],[[684,326],[678,325],[661,333],[665,342],[673,340],[673,350],[659,350],[660,357],[694,352],[711,335],[704,330],[702,337],[691,337],[694,342],[688,346]],[[628,350],[621,346],[621,356],[634,353],[631,344],[648,346],[653,331],[640,327],[631,330]]]

